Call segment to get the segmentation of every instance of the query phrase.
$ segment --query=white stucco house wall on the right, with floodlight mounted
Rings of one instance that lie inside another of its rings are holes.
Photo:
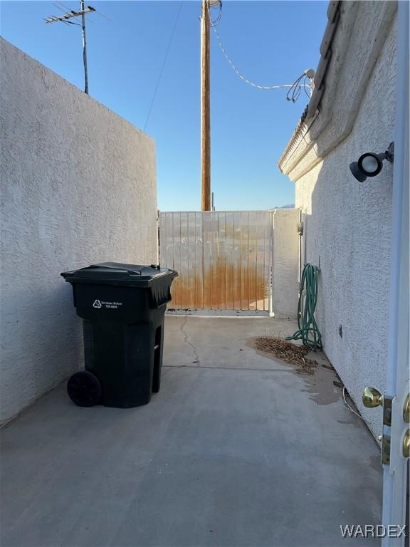
[[[368,4],[359,3],[359,9]],[[357,19],[361,24],[363,16]],[[354,34],[359,40],[359,32]],[[354,48],[349,51],[345,73],[357,63]],[[381,432],[381,410],[364,408],[362,391],[367,385],[383,391],[386,385],[393,168],[384,162],[377,177],[358,182],[349,163],[364,152],[386,150],[394,140],[395,79],[396,17],[363,89],[352,132],[319,163],[305,157],[305,166],[316,164],[306,174],[298,177],[298,166],[293,172],[296,207],[303,209],[305,222],[304,252],[307,261],[320,261],[317,322],[325,352],[375,436]],[[339,84],[333,108],[340,114],[354,82],[341,78]],[[330,124],[337,134],[337,121]],[[318,135],[312,156],[326,140]]]

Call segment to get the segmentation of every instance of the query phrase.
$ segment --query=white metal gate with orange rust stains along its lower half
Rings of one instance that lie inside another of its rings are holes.
[[[159,260],[175,309],[270,311],[269,211],[159,213]]]

